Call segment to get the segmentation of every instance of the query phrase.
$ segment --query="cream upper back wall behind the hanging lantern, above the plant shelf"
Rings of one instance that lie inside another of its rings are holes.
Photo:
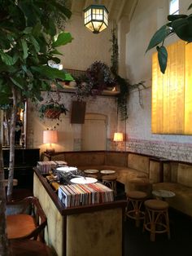
[[[102,33],[95,34],[85,28],[81,15],[74,14],[65,30],[70,32],[74,39],[59,49],[63,52],[63,68],[86,70],[96,60],[110,65],[111,23]]]

